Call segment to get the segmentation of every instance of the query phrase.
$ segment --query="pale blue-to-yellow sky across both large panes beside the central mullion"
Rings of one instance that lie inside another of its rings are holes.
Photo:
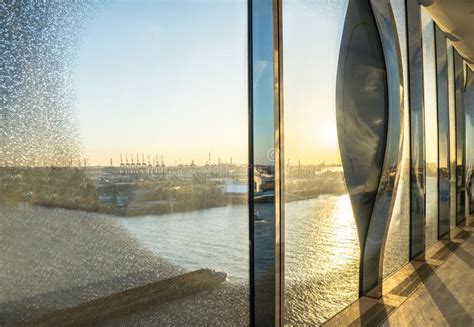
[[[285,156],[338,162],[335,71],[345,6],[284,7]],[[247,162],[244,1],[111,1],[85,30],[75,80],[90,164],[118,164],[132,153],[204,164],[209,152],[213,163]]]

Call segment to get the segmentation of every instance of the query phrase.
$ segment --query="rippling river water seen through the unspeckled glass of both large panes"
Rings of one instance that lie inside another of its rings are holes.
[[[320,324],[357,299],[359,245],[350,200],[323,195],[287,203],[285,210],[285,320]],[[247,206],[118,220],[174,264],[248,283]]]

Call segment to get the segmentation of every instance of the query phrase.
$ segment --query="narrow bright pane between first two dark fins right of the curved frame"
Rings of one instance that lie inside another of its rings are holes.
[[[438,118],[434,23],[421,8],[426,146],[426,246],[438,239]]]

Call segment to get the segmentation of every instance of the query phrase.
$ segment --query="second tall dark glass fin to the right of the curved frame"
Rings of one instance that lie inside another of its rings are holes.
[[[435,25],[436,83],[438,96],[438,237],[449,233],[449,102],[446,35]]]

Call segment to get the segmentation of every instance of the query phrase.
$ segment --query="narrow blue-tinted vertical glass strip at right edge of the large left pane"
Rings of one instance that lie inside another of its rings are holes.
[[[252,2],[253,228],[255,324],[275,325],[274,1]]]

